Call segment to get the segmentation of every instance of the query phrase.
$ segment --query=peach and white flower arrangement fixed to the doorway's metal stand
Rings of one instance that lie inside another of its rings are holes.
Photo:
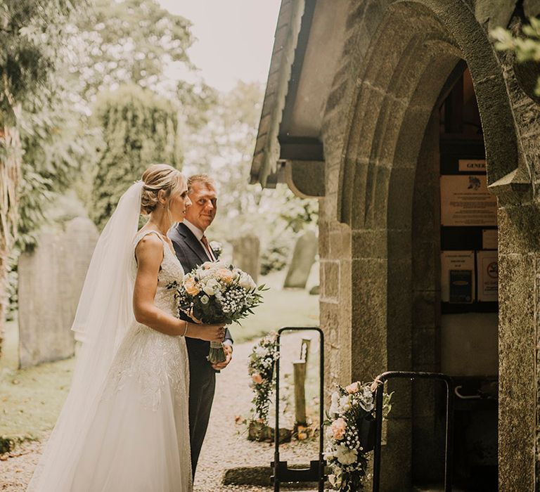
[[[392,408],[391,397],[392,394],[383,394],[383,417]],[[347,387],[338,386],[338,391],[332,394],[324,422],[328,427],[324,457],[332,469],[328,479],[335,490],[354,492],[364,488],[368,452],[373,446],[368,442],[368,435],[374,414],[372,383],[354,382]]]

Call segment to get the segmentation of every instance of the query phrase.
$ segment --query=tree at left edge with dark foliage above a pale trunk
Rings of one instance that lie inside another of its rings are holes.
[[[23,150],[23,105],[38,103],[51,75],[76,1],[4,0],[0,4],[0,351],[6,315],[8,254],[17,236]]]

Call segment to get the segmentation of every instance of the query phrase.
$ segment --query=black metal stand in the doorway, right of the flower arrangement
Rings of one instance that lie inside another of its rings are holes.
[[[373,455],[373,492],[379,492],[380,487],[380,451],[383,437],[383,391],[385,382],[390,379],[424,379],[444,381],[446,383],[446,444],[444,453],[444,491],[452,490],[451,465],[454,458],[454,381],[442,373],[408,373],[405,371],[389,371],[376,378],[379,381],[375,391],[375,452]]]

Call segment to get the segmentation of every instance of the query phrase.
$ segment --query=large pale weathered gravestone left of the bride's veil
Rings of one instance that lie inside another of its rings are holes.
[[[98,231],[76,217],[65,229],[44,228],[32,252],[19,259],[20,367],[74,354],[71,331]]]

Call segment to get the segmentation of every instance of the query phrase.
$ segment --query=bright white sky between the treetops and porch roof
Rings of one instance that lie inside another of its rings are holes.
[[[158,0],[193,22],[188,52],[207,84],[228,91],[237,80],[266,82],[281,0]]]

